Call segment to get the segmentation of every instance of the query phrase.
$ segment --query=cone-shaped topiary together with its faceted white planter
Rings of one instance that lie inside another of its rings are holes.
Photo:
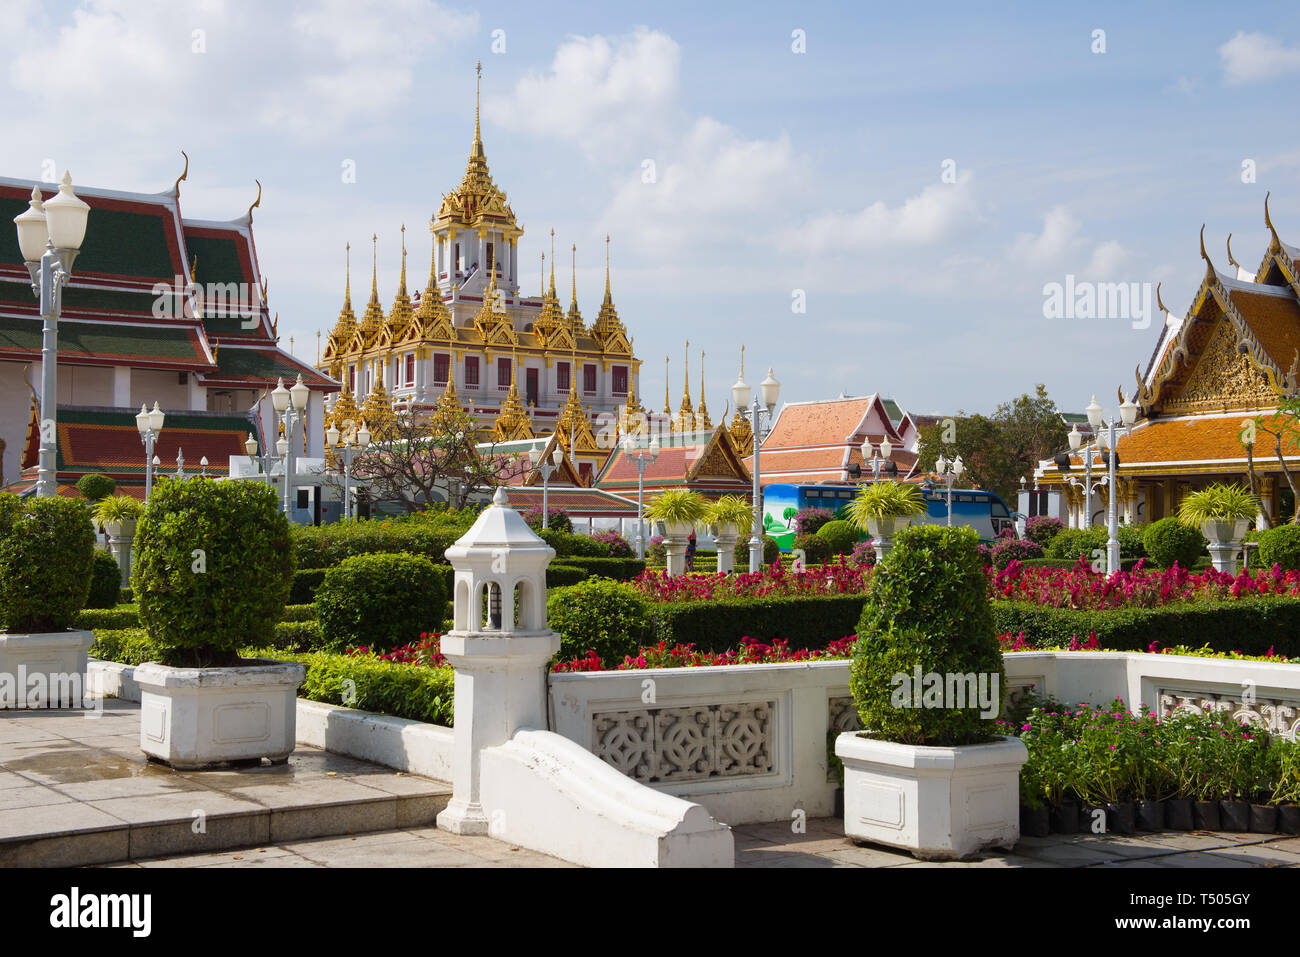
[[[1005,672],[978,545],[919,525],[876,564],[849,672],[863,731],[835,744],[855,841],[942,859],[1019,839],[1028,753],[994,732]]]

